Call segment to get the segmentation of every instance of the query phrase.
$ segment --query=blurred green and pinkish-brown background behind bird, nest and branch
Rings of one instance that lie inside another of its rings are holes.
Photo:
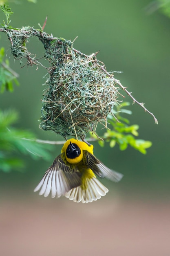
[[[148,7],[149,6],[149,7]],[[85,54],[100,51],[98,59],[124,86],[155,114],[159,125],[137,105],[129,107],[131,124],[139,124],[139,137],[152,141],[146,155],[128,148],[120,151],[97,143],[95,155],[108,167],[124,174],[119,184],[103,180],[109,193],[97,202],[76,204],[66,198],[43,198],[33,189],[51,162],[23,156],[22,171],[0,172],[0,251],[3,256],[55,255],[170,255],[170,18],[150,12],[150,0],[26,0],[11,3],[13,27],[38,28],[74,40]],[[0,22],[4,19],[0,13]],[[20,68],[10,44],[1,33],[11,67],[20,75],[20,86],[0,95],[0,108],[20,113],[16,126],[35,132],[39,139],[60,140],[39,129],[42,84],[46,71]],[[30,52],[44,54],[43,45],[30,40]],[[47,62],[45,62],[48,65]],[[127,96],[126,101],[131,101]]]

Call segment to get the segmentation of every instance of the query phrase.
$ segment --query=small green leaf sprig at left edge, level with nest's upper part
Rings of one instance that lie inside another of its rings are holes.
[[[9,67],[9,60],[5,59],[5,49],[0,48],[0,93],[5,90],[13,92],[13,83],[19,85],[18,74]]]

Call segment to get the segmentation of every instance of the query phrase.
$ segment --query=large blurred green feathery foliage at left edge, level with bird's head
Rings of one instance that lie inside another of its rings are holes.
[[[22,168],[23,154],[31,155],[34,159],[51,159],[47,151],[51,146],[37,143],[35,136],[29,131],[12,127],[17,119],[15,111],[0,110],[0,170],[5,172]]]

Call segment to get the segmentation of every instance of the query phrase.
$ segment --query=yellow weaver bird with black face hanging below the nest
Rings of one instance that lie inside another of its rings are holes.
[[[34,191],[39,195],[52,198],[66,198],[74,202],[88,203],[106,195],[108,189],[97,180],[96,176],[108,178],[114,182],[123,175],[107,168],[93,155],[93,145],[77,139],[68,139],[61,154],[45,172]]]

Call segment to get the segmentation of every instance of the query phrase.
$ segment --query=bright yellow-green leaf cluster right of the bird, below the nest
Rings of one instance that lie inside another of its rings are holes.
[[[138,136],[137,130],[139,129],[139,126],[136,124],[129,125],[129,120],[120,115],[121,113],[131,114],[131,111],[123,108],[129,105],[129,102],[123,102],[121,106],[117,106],[117,112],[115,113],[116,117],[111,115],[108,116],[110,130],[106,130],[104,135],[101,137],[103,140],[98,141],[99,145],[104,146],[106,141],[109,142],[111,148],[118,144],[120,150],[125,150],[129,145],[142,154],[146,154],[146,148],[150,148],[150,146],[152,146],[152,142],[145,141],[143,139],[136,139],[135,136]],[[118,120],[121,121],[121,123]],[[92,136],[95,137],[95,135]]]

